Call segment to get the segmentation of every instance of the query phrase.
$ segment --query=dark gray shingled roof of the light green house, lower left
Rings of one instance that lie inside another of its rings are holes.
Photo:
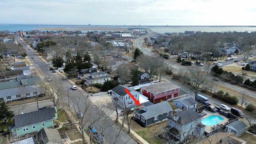
[[[32,124],[38,124],[48,120],[53,120],[55,113],[55,108],[46,108],[43,110],[14,116],[15,129],[22,128],[24,126],[30,126]]]

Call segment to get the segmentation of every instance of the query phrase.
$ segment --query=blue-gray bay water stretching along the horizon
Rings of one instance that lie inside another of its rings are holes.
[[[87,30],[81,30],[82,32],[93,31],[90,27],[95,28],[97,26],[76,26],[76,25],[11,25],[11,24],[0,24],[0,31],[8,30],[10,32],[16,32],[19,30],[30,31],[36,30],[36,28],[86,28]],[[100,26],[99,26],[100,27]],[[103,27],[103,26],[102,26]],[[128,26],[106,26],[106,27],[124,27]],[[136,27],[136,26],[134,26]],[[201,32],[255,32],[256,26],[140,26],[142,28],[150,28],[154,32],[165,33],[165,32],[185,32],[187,31],[201,31]],[[42,30],[41,30],[42,31]]]

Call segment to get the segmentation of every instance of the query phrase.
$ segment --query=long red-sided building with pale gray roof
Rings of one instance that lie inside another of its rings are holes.
[[[176,86],[169,82],[158,82],[149,86],[141,87],[140,93],[148,97],[148,100],[155,103],[160,102],[160,100],[167,100],[168,98],[178,96],[180,88],[180,86]]]

